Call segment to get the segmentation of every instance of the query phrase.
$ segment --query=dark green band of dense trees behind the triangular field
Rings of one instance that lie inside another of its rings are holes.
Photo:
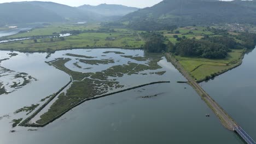
[[[160,33],[146,32],[141,36],[146,40],[144,50],[147,52],[171,52],[185,57],[225,58],[232,49],[254,49],[256,45],[256,34],[246,32],[233,37],[206,35],[201,40],[184,38],[175,45]],[[243,42],[237,43],[235,39]]]

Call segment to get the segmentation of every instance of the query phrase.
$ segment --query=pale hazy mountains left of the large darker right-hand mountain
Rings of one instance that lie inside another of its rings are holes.
[[[0,25],[32,22],[110,21],[138,10],[123,5],[101,4],[70,7],[53,2],[12,2],[0,4]]]

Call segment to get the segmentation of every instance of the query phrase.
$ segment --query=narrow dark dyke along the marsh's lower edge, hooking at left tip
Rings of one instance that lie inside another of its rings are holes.
[[[83,100],[83,101],[80,101],[79,103],[77,103],[77,104],[75,104],[75,105],[69,107],[69,109],[63,111],[62,113],[60,113],[60,115],[54,117],[54,118],[51,119],[51,121],[49,121],[49,122],[45,122],[45,123],[43,123],[43,124],[36,124],[36,123],[30,124],[30,123],[28,123],[34,116],[36,116],[36,115],[40,112],[40,110],[42,110],[42,109],[39,109],[39,111],[37,110],[37,112],[33,113],[33,115],[32,115],[31,117],[27,118],[27,119],[26,119],[24,122],[22,122],[20,125],[21,125],[21,126],[24,126],[24,127],[44,127],[45,125],[47,125],[47,124],[49,124],[49,123],[55,121],[57,118],[60,118],[61,116],[63,116],[65,113],[67,113],[69,110],[73,109],[74,107],[77,107],[78,105],[83,104],[85,101],[89,101],[89,100],[94,100],[94,99],[98,99],[98,98],[107,97],[107,96],[109,96],[109,95],[113,95],[113,94],[117,94],[117,93],[121,93],[121,92],[125,92],[125,91],[130,91],[130,90],[132,90],[132,89],[136,89],[136,88],[140,88],[140,87],[144,87],[144,86],[148,86],[148,85],[154,85],[154,84],[156,84],[156,83],[170,83],[170,81],[151,82],[151,83],[147,83],[147,84],[144,84],[144,85],[139,85],[139,86],[136,86],[136,87],[131,87],[131,88],[123,89],[123,90],[118,91],[118,92],[113,92],[113,93],[109,93],[109,94],[104,94],[104,95],[101,95],[101,96],[99,96],[99,97],[88,98],[88,99],[85,99],[85,100]],[[48,100],[48,101],[49,101],[49,100]],[[51,100],[50,100],[50,101],[51,101]],[[49,102],[50,102],[50,101],[49,101]],[[47,103],[47,104],[49,104],[49,103]],[[46,105],[47,105],[47,104],[46,104]],[[46,105],[45,105],[45,106],[46,106]],[[44,106],[44,107],[45,107],[45,106]]]

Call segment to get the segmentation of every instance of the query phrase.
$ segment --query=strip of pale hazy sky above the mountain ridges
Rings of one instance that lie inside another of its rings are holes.
[[[0,0],[0,3],[20,2],[20,1],[22,0]],[[23,1],[30,1],[30,0],[23,0]],[[37,0],[37,1],[40,1],[40,0]],[[107,3],[107,4],[122,4],[130,7],[144,8],[144,7],[151,7],[154,4],[161,2],[162,0],[42,0],[42,1],[50,1],[55,3],[71,5],[71,6],[80,6],[84,4],[98,5],[102,3]]]

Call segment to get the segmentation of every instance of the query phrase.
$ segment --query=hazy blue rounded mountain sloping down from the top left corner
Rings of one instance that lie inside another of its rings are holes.
[[[63,21],[60,15],[36,5],[28,3],[0,4],[0,25],[58,21]]]

